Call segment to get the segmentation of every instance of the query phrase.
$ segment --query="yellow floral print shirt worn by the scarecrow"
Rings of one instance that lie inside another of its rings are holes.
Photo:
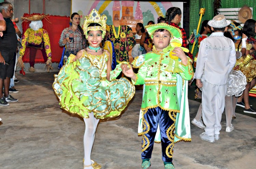
[[[43,43],[48,59],[52,59],[50,39],[45,29],[40,28],[39,30],[34,31],[31,28],[28,28],[26,30],[26,32],[22,36],[22,48],[19,52],[21,57],[24,56],[28,43],[31,43],[33,45],[40,45],[41,43]]]

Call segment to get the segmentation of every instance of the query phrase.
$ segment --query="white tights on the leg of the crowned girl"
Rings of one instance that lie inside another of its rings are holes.
[[[93,148],[95,132],[99,119],[94,117],[93,113],[89,113],[89,118],[84,118],[85,132],[84,132],[84,165],[91,165],[91,149]],[[92,167],[86,167],[92,169]]]

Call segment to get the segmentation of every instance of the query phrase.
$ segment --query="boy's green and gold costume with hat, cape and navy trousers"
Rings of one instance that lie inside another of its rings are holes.
[[[158,29],[170,32],[171,37],[182,37],[181,31],[166,23],[145,26],[153,39]],[[134,58],[132,65],[139,68],[133,84],[145,84],[138,135],[142,135],[142,160],[150,159],[154,140],[162,145],[163,162],[171,163],[174,143],[179,140],[190,141],[190,125],[187,101],[187,81],[194,73],[190,59],[187,65],[178,61],[180,73],[165,71],[169,65],[170,51],[153,51]],[[172,69],[175,62],[172,62]],[[148,168],[150,161],[144,161],[142,168]],[[173,165],[170,164],[173,167]]]

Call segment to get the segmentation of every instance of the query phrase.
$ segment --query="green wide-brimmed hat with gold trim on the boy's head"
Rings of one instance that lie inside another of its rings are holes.
[[[152,25],[146,25],[145,29],[147,29],[148,34],[153,39],[153,34],[158,29],[164,29],[170,32],[171,37],[175,36],[176,38],[181,37],[182,38],[182,32],[179,28],[175,26],[168,25],[167,23],[157,23]]]

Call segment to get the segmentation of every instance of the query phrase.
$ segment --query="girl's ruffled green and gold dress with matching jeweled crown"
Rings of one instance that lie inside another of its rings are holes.
[[[92,10],[84,22],[84,30],[103,30],[104,38],[106,29],[106,16],[94,17],[99,14]],[[89,18],[91,17],[91,18]],[[90,23],[102,25],[87,27]],[[86,33],[87,37],[87,31]],[[75,113],[83,118],[88,118],[89,113],[99,119],[116,117],[127,106],[135,93],[132,83],[126,78],[114,80],[122,71],[118,64],[114,71],[111,71],[111,80],[106,79],[106,68],[109,56],[105,51],[101,55],[91,55],[85,51],[82,57],[76,61],[74,55],[70,55],[68,64],[64,65],[58,75],[55,75],[53,89],[60,99],[61,108]]]

